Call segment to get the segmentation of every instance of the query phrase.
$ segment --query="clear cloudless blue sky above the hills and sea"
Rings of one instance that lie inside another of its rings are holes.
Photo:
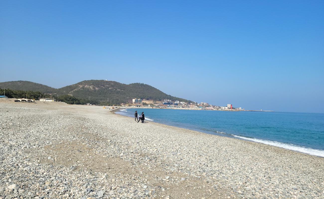
[[[324,112],[324,1],[1,1],[0,82]],[[315,109],[315,107],[318,107]]]

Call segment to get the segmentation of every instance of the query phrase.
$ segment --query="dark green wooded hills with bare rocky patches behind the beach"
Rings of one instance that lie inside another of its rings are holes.
[[[109,100],[109,102],[115,101],[116,103],[126,101],[129,103],[133,98],[157,101],[165,99],[179,100],[184,102],[190,101],[165,94],[148,84],[123,84],[106,80],[85,80],[59,89],[29,81],[11,81],[0,83],[0,88],[5,87],[13,90],[40,91],[42,93],[52,95],[70,94],[81,99],[98,101]]]

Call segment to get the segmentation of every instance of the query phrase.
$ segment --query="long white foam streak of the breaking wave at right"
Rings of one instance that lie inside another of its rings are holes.
[[[241,138],[241,139],[250,140],[250,141],[254,141],[254,142],[259,142],[259,143],[263,143],[263,144],[267,144],[267,145],[271,145],[271,146],[275,146],[275,147],[280,147],[280,148],[284,148],[284,149],[289,149],[289,150],[294,150],[294,151],[298,151],[298,152],[302,152],[302,153],[307,153],[307,154],[310,154],[310,155],[324,157],[324,150],[311,149],[311,148],[302,147],[302,146],[298,146],[298,145],[294,145],[294,144],[285,144],[285,143],[282,143],[282,142],[270,141],[270,140],[265,140],[265,139],[247,138],[247,137],[244,137],[244,136],[237,136],[237,135],[233,135],[233,134],[231,134],[231,135],[236,137],[236,138]]]

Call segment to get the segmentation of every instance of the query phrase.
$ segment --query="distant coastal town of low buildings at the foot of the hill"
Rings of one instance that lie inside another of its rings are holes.
[[[155,108],[165,108],[165,109],[191,109],[191,110],[219,110],[219,111],[245,111],[244,108],[241,107],[233,107],[232,104],[227,104],[227,106],[217,106],[211,105],[206,102],[180,102],[180,101],[172,101],[172,100],[164,100],[164,101],[147,101],[142,99],[134,98],[132,100],[133,104],[121,103],[121,106],[148,106]]]

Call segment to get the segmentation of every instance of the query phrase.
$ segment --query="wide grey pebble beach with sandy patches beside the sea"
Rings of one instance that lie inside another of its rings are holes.
[[[0,199],[324,198],[321,157],[102,106],[0,100]]]

